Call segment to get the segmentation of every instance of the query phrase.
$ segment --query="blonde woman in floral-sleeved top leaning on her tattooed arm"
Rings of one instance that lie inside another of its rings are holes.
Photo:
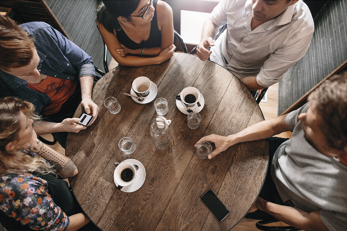
[[[37,139],[35,119],[32,103],[0,99],[0,223],[8,231],[98,230],[59,179],[75,176],[75,164]]]

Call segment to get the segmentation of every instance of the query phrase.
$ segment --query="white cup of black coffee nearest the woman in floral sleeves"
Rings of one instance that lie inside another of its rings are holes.
[[[128,162],[122,162],[117,165],[113,177],[115,178],[119,190],[124,186],[131,185],[136,178],[135,166]]]

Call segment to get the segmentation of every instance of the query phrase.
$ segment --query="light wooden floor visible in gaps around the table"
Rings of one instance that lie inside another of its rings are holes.
[[[112,59],[111,63],[109,65],[109,69],[113,69],[114,67],[118,66],[118,63]],[[268,89],[268,99],[267,102],[261,102],[259,104],[263,114],[264,114],[264,118],[266,119],[271,119],[271,118],[275,118],[277,117],[277,110],[278,110],[278,83],[274,84],[273,86],[270,86]],[[291,136],[291,132],[283,132],[279,135],[277,135],[278,137],[283,137],[283,138],[290,138]],[[53,140],[53,137],[51,134],[48,135],[44,135],[43,136],[45,139],[48,140]],[[50,146],[52,147],[54,150],[60,152],[61,154],[65,155],[65,149],[62,148],[58,143]],[[77,166],[78,167],[78,166]],[[238,223],[234,229],[232,229],[233,231],[257,231],[258,229],[255,227],[255,223],[257,222],[257,220],[252,220],[252,219],[243,219],[242,221],[240,221],[240,223]],[[282,226],[282,225],[286,225],[283,222],[277,222],[272,224],[271,226]],[[1,231],[1,230],[0,230]]]

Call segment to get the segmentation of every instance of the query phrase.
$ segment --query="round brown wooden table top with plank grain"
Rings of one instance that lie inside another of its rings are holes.
[[[147,76],[158,86],[156,98],[168,101],[172,120],[170,145],[157,149],[150,135],[151,120],[158,116],[154,100],[138,104],[130,92],[138,76]],[[204,96],[198,129],[189,129],[187,115],[176,107],[181,90],[194,86]],[[121,105],[118,114],[104,107],[114,96]],[[160,65],[118,66],[93,89],[100,111],[95,122],[79,133],[69,133],[66,155],[78,168],[70,185],[90,219],[104,231],[112,230],[230,230],[251,208],[259,195],[268,163],[268,140],[229,147],[212,160],[199,159],[194,144],[210,134],[235,134],[264,120],[247,88],[225,68],[197,56],[175,53]],[[75,117],[82,109],[77,108]],[[133,154],[118,148],[122,137],[136,144]],[[113,181],[113,162],[140,161],[146,170],[141,188],[133,193],[119,191]],[[230,214],[219,222],[200,197],[212,189]]]

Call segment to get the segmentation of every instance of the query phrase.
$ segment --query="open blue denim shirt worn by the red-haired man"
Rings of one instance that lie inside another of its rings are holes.
[[[43,22],[31,22],[20,25],[34,38],[37,54],[40,57],[37,70],[43,75],[78,80],[82,76],[95,77],[91,57],[68,40],[56,29]],[[38,114],[44,112],[51,102],[46,94],[27,87],[27,82],[0,70],[0,97],[13,96],[34,104]]]

